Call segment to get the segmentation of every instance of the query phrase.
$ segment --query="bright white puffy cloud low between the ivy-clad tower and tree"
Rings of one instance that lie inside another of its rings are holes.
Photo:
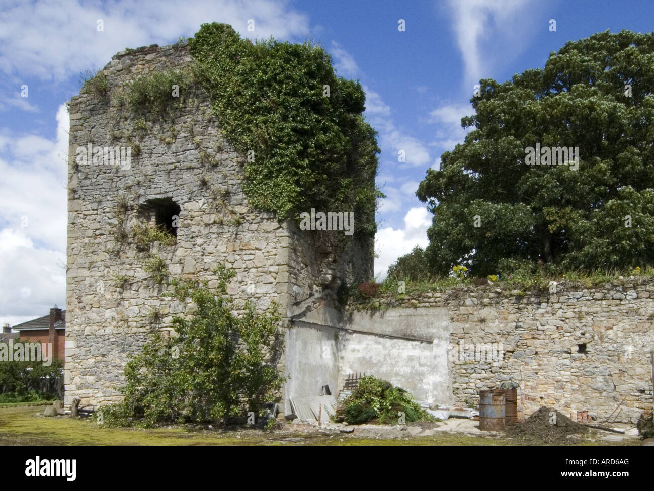
[[[375,278],[385,279],[388,266],[400,256],[411,252],[415,246],[426,247],[427,229],[431,224],[430,213],[422,207],[415,207],[404,216],[404,229],[388,227],[377,231],[375,251],[379,253],[379,258],[375,258]]]

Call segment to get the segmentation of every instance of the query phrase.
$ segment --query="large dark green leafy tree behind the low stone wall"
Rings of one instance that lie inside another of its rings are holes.
[[[426,249],[446,273],[507,260],[555,269],[654,263],[654,33],[596,33],[545,69],[481,80],[463,144],[427,171]],[[579,167],[528,165],[526,148],[579,147]],[[630,226],[629,226],[630,225]]]

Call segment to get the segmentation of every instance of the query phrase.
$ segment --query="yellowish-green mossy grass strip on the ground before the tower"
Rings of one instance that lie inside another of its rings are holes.
[[[353,435],[262,430],[99,428],[90,418],[44,418],[45,405],[0,407],[0,445],[517,445],[506,438],[443,433],[408,439],[364,439]],[[619,445],[638,445],[630,439]],[[587,442],[582,445],[610,445]]]

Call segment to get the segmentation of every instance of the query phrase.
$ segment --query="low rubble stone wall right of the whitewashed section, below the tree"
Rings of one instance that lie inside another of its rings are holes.
[[[399,300],[385,296],[379,303],[447,309],[451,400],[442,402],[472,407],[480,389],[510,380],[519,383],[523,415],[548,405],[603,420],[620,405],[611,420],[636,422],[652,408],[654,280],[592,288],[564,283],[557,290],[523,294],[470,286]]]

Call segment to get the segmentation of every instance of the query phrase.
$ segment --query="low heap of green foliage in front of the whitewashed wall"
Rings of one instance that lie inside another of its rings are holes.
[[[373,418],[380,423],[385,420],[396,422],[400,411],[404,412],[407,422],[436,420],[420,407],[409,392],[376,377],[361,379],[358,388],[345,401],[345,420],[349,424],[359,424]]]

